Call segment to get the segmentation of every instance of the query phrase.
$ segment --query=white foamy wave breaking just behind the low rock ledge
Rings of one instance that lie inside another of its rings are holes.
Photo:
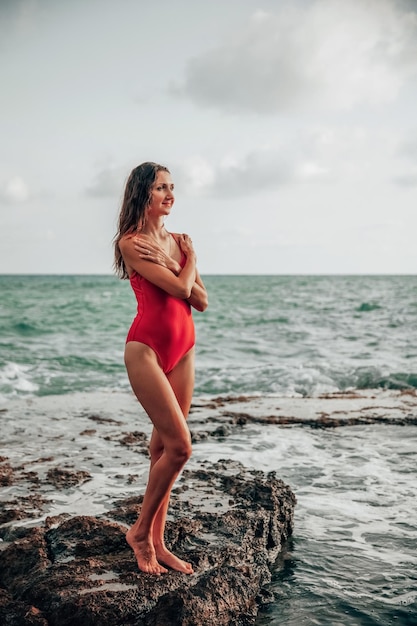
[[[22,365],[8,362],[0,368],[0,393],[16,395],[65,395],[94,389],[125,390],[129,387],[122,361],[103,361],[68,355]],[[214,366],[197,364],[195,393],[278,394],[314,396],[347,389],[416,389],[416,372],[387,371],[375,366],[350,370],[331,363],[303,366],[288,362]]]

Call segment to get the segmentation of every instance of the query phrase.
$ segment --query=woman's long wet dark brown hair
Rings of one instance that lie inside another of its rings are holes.
[[[158,172],[169,172],[164,165],[147,161],[131,171],[127,179],[118,230],[114,237],[114,269],[119,278],[129,278],[120,252],[119,241],[127,233],[143,227],[145,212],[152,197],[152,185]]]

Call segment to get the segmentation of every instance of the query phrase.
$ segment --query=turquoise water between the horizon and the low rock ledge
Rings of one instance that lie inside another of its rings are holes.
[[[197,395],[417,387],[416,276],[207,276]],[[126,389],[112,276],[0,276],[0,396]]]

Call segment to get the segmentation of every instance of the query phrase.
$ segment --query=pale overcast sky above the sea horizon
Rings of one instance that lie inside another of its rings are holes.
[[[112,273],[143,161],[203,275],[417,272],[417,0],[0,0],[0,84],[0,273]]]

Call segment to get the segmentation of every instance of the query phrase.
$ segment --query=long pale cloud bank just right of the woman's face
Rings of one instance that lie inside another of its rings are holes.
[[[225,152],[209,161],[186,159],[174,168],[181,193],[216,197],[242,197],[291,183],[334,183],[378,175],[376,155],[390,150],[390,137],[360,127],[305,128],[296,137],[271,138],[245,152]],[[372,157],[370,159],[370,156]],[[371,162],[370,162],[371,161]],[[376,170],[376,171],[375,171]]]

